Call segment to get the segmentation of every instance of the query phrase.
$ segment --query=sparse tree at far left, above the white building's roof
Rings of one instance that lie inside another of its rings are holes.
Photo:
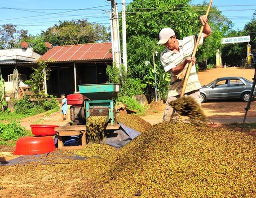
[[[0,48],[19,48],[20,41],[29,38],[27,30],[17,30],[17,26],[5,24],[0,28]]]

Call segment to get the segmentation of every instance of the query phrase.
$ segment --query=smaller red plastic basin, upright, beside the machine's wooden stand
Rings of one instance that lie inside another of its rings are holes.
[[[48,136],[48,135],[56,135],[56,131],[54,130],[57,125],[30,125],[31,131],[33,135],[36,136]]]

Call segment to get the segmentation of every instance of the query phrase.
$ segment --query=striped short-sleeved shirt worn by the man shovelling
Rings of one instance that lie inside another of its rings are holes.
[[[161,53],[161,62],[163,65],[163,69],[165,72],[168,72],[170,69],[180,65],[185,58],[192,56],[194,46],[196,43],[196,39],[198,35],[193,35],[189,37],[185,37],[183,40],[178,40],[180,52],[172,52],[168,48],[166,48]],[[199,46],[203,44],[203,36],[200,39]],[[169,85],[168,97],[181,95],[182,86],[184,83],[185,74],[187,71],[188,64],[186,64],[185,68],[178,75],[173,74],[171,71],[171,82]],[[192,65],[190,76],[188,78],[187,86],[185,89],[185,93],[190,91],[201,89],[201,84],[199,82],[195,65]]]

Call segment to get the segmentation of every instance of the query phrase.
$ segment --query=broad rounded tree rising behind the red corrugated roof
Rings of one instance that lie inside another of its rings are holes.
[[[110,33],[105,26],[97,23],[89,23],[86,19],[59,21],[41,34],[44,40],[57,45],[74,45],[81,43],[107,42]]]

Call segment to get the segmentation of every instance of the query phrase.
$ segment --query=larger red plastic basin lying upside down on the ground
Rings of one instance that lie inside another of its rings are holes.
[[[16,142],[14,155],[36,155],[52,152],[55,149],[54,140],[51,136],[22,137]]]

